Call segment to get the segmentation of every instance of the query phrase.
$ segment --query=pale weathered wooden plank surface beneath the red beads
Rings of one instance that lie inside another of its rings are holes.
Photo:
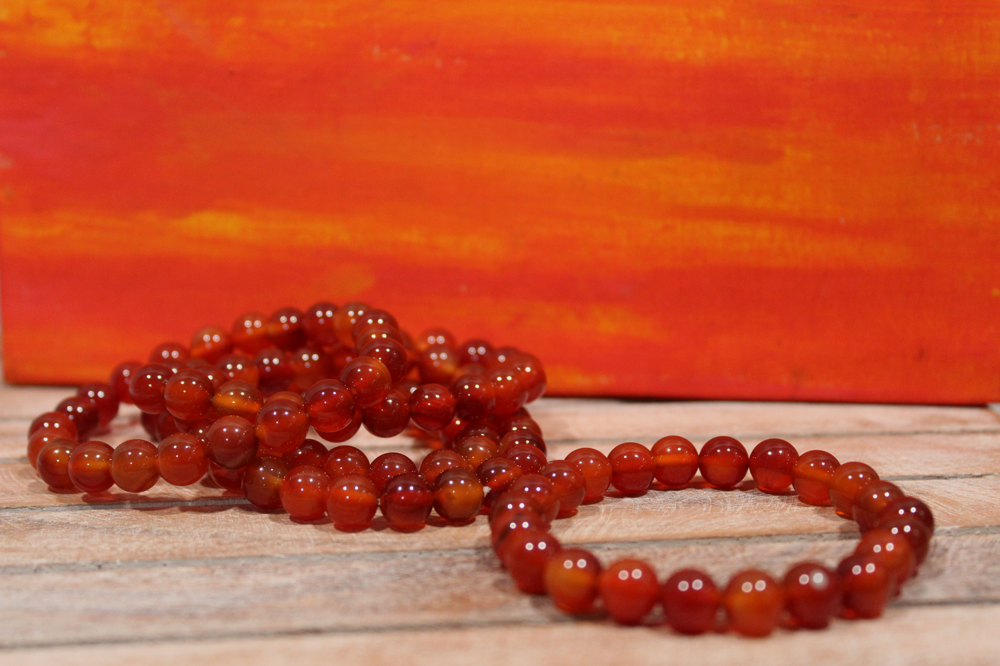
[[[347,534],[253,510],[208,481],[103,499],[51,493],[24,433],[67,393],[0,388],[0,663],[1000,663],[1000,417],[986,408],[537,403],[553,458],[666,434],[698,446],[730,434],[748,449],[776,436],[868,462],[934,510],[931,554],[881,619],[751,640],[570,619],[514,589],[482,517]],[[140,433],[128,408],[105,439]],[[357,439],[370,455],[426,453],[403,437]],[[805,558],[832,565],[854,548],[854,523],[832,509],[751,486],[608,497],[553,531],[605,563],[638,556],[661,575],[697,566],[723,582],[748,567],[781,576]]]

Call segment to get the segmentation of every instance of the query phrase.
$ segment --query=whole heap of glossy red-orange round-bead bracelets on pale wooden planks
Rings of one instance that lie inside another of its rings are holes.
[[[458,524],[484,513],[493,550],[520,590],[622,624],[650,621],[660,604],[666,623],[687,634],[729,628],[764,636],[779,624],[877,617],[927,556],[934,519],[923,502],[864,463],[841,464],[825,451],[799,455],[781,439],[747,455],[732,437],[697,451],[669,436],[651,449],[628,442],[607,456],[581,448],[549,461],[524,408],[545,382],[538,359],[517,349],[458,345],[441,330],[413,340],[384,310],[317,303],[305,313],[247,314],[230,332],[210,326],[188,348],[165,343],[147,364],[122,363],[110,383],[82,386],[32,422],[28,459],[52,489],[92,494],[112,485],[138,493],[160,478],[186,486],[208,473],[261,509],[284,508],[301,521],[328,515],[343,531],[368,528],[377,509],[404,532],[422,528],[431,509]],[[112,448],[90,439],[107,432],[119,401],[142,411],[150,441]],[[435,450],[418,469],[401,453],[369,461],[353,446],[328,451],[306,439],[311,426],[341,443],[362,425],[378,437],[409,431]],[[854,554],[835,570],[796,564],[780,582],[741,571],[722,589],[695,569],[661,583],[641,560],[603,567],[549,533],[554,519],[599,501],[609,486],[636,496],[689,486],[700,471],[710,487],[732,488],[748,470],[763,492],[793,486],[802,502],[832,504],[857,521]]]

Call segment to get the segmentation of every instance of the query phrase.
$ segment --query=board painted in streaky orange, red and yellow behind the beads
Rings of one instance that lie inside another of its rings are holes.
[[[361,298],[573,395],[1000,400],[1000,8],[13,2],[6,377]]]

